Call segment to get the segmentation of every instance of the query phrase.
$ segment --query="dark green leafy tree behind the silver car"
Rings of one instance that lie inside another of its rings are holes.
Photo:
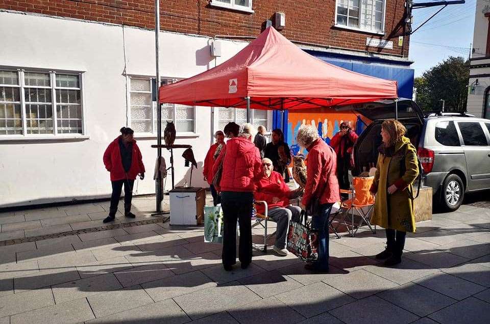
[[[415,78],[415,101],[424,111],[439,110],[441,99],[445,100],[445,112],[465,111],[469,75],[469,61],[450,57]]]

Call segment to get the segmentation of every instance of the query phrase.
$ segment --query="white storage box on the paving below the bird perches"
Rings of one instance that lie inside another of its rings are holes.
[[[204,221],[206,190],[176,187],[170,190],[170,225],[198,225]]]

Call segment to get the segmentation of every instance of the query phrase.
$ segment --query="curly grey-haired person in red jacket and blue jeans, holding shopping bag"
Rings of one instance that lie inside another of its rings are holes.
[[[306,159],[306,185],[303,205],[310,209],[315,201],[318,208],[311,215],[312,227],[318,230],[318,261],[307,263],[306,269],[313,272],[328,272],[329,217],[332,205],[340,200],[335,175],[337,156],[335,151],[318,136],[312,125],[303,125],[298,130],[297,142],[308,151]]]

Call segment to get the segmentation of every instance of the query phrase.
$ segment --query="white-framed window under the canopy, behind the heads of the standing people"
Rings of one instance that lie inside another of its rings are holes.
[[[215,130],[223,130],[229,122],[235,122],[238,125],[247,122],[247,110],[244,108],[225,108],[225,107],[215,107],[215,112],[217,111],[217,117],[215,125]],[[266,129],[272,127],[271,112],[266,110],[256,110],[252,109],[252,124],[255,127],[260,125],[264,126]]]

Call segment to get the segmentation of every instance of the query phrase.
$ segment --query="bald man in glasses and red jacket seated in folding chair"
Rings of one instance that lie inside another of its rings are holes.
[[[289,205],[289,198],[297,196],[299,191],[290,191],[281,174],[273,171],[274,166],[271,159],[262,159],[262,176],[255,180],[255,200],[267,202],[269,220],[277,223],[276,243],[274,252],[280,256],[286,256],[286,235],[289,221],[298,222],[301,208]],[[264,213],[262,204],[256,205],[258,213]]]

